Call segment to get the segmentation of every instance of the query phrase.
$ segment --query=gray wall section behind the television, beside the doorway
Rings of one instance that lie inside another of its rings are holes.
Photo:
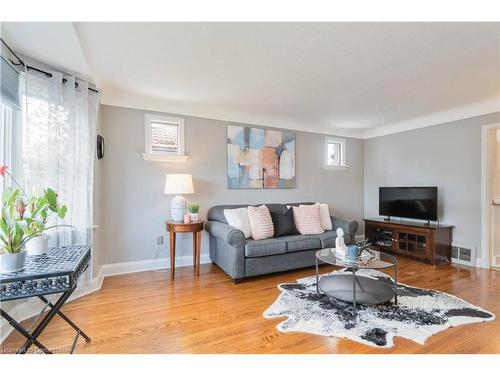
[[[365,140],[364,214],[378,216],[380,186],[438,186],[453,242],[481,246],[481,126],[500,112]]]

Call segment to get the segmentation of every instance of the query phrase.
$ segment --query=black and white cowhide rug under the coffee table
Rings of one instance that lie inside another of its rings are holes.
[[[387,274],[374,270],[360,270],[356,274],[392,281]],[[280,284],[278,288],[281,294],[264,312],[264,317],[286,316],[288,319],[277,326],[281,332],[348,338],[382,348],[392,347],[394,336],[424,344],[430,336],[449,327],[495,319],[494,314],[450,294],[404,284],[398,284],[397,305],[394,300],[381,305],[361,305],[356,317],[350,303],[317,294],[315,276]]]

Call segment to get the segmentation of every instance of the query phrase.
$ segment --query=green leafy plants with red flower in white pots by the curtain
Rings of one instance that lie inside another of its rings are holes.
[[[67,211],[66,206],[58,204],[57,194],[52,189],[43,190],[40,196],[29,196],[7,172],[6,166],[0,167],[0,175],[4,178],[8,175],[16,185],[2,192],[0,271],[15,272],[24,268],[27,255],[25,247],[29,241],[43,236],[48,229],[71,225],[47,226],[51,213],[62,219]],[[43,248],[38,245],[40,251]]]

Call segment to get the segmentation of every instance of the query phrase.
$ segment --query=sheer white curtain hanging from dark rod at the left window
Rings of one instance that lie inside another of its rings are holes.
[[[68,207],[63,222],[76,230],[53,230],[52,246],[91,243],[99,97],[87,82],[51,73],[24,73],[24,181],[31,192],[52,188]]]

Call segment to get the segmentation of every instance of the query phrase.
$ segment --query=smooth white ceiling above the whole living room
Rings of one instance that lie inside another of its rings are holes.
[[[500,110],[499,23],[24,25],[16,49],[104,104],[360,138]]]

